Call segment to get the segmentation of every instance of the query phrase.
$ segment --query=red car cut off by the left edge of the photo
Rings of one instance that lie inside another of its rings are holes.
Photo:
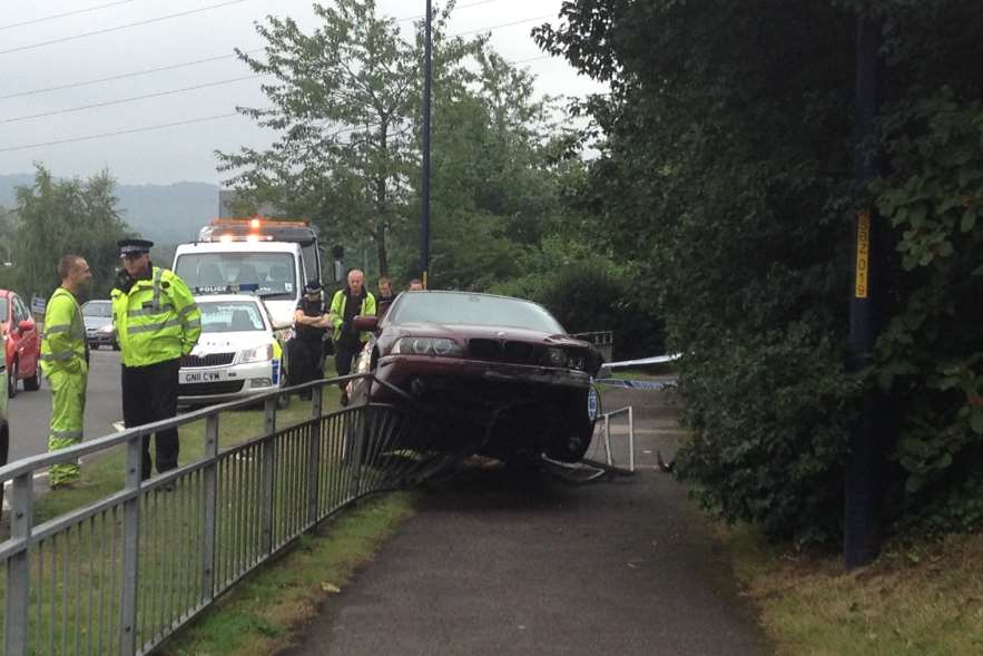
[[[17,395],[17,385],[32,392],[41,386],[41,335],[28,306],[16,292],[0,290],[0,332],[7,355],[7,395]]]

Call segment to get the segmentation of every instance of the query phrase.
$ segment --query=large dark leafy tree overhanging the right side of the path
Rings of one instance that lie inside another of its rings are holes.
[[[864,189],[852,184],[857,11],[886,26],[888,94],[869,148],[894,168]],[[983,453],[983,354],[970,327],[983,77],[967,63],[983,56],[983,9],[579,0],[563,18],[538,30],[541,45],[611,84],[580,107],[602,138],[571,198],[593,215],[593,242],[651,281],[645,296],[685,354],[692,437],[679,470],[701,500],[775,537],[837,539],[854,401],[882,384],[904,435],[896,517],[934,515],[940,529],[983,520],[970,503],[983,479],[969,464]],[[877,362],[851,375],[851,227],[875,196],[898,228],[902,316]],[[953,495],[955,510],[935,512]]]

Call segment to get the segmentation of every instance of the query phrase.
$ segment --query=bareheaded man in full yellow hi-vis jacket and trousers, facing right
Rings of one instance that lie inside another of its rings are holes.
[[[77,296],[88,286],[92,274],[82,257],[66,255],[58,263],[58,276],[61,286],[55,290],[45,307],[45,332],[41,336],[41,371],[51,385],[49,451],[82,441],[89,375],[86,324]],[[51,488],[69,486],[78,478],[77,461],[53,464],[48,471]]]

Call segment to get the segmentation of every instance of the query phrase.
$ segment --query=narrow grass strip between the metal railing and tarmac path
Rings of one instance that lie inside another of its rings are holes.
[[[413,512],[412,492],[375,497],[304,536],[274,564],[236,586],[195,623],[167,640],[169,656],[272,654],[295,640],[296,629],[341,593],[355,570]]]

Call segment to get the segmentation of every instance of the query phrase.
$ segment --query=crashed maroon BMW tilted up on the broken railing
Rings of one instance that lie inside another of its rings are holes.
[[[363,379],[352,384],[353,402],[367,395],[424,411],[399,447],[573,462],[590,446],[591,378],[601,358],[542,306],[491,294],[403,292],[384,317],[361,316],[356,325],[373,336],[355,370],[403,393]]]

